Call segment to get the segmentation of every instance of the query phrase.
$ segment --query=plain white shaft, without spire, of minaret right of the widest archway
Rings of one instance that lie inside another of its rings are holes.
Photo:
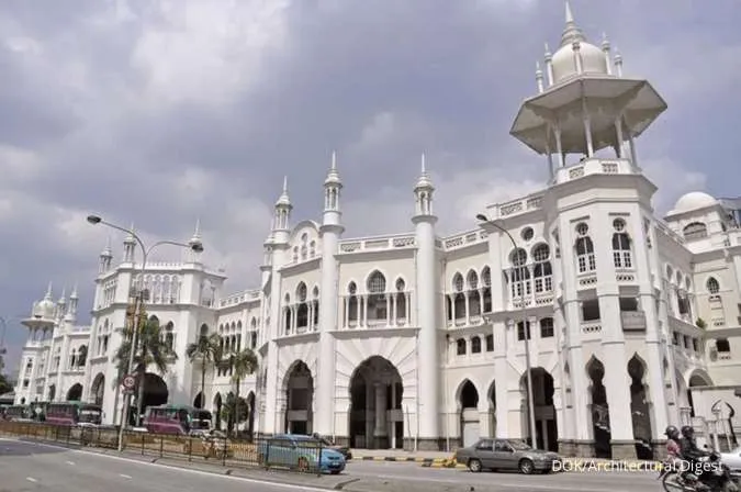
[[[416,225],[417,271],[416,302],[417,324],[419,326],[417,379],[419,391],[419,438],[437,439],[439,429],[439,358],[437,310],[435,292],[437,291],[437,262],[435,258],[435,223],[434,215],[417,215],[413,219]],[[424,444],[423,444],[424,446]]]

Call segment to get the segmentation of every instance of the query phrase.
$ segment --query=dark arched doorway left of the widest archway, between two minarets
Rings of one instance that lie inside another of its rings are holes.
[[[285,431],[290,434],[311,434],[314,378],[308,366],[297,360],[285,378]]]

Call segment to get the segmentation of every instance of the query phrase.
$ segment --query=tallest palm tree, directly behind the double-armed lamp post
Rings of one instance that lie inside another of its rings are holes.
[[[167,367],[178,356],[172,351],[170,346],[162,338],[162,331],[159,326],[159,320],[155,316],[149,320],[146,318],[146,312],[141,309],[139,329],[137,335],[136,349],[134,350],[134,372],[138,380],[138,398],[136,400],[136,418],[134,422],[138,423],[139,415],[142,415],[142,406],[144,404],[144,383],[147,367],[154,365],[157,371],[161,374],[167,372]],[[115,359],[117,366],[119,378],[121,379],[126,373],[128,366],[128,357],[132,348],[131,328],[124,331],[124,342],[116,350]]]

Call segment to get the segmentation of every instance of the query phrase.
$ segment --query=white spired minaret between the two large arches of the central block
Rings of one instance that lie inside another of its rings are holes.
[[[337,299],[339,266],[335,255],[345,227],[340,223],[339,195],[343,182],[337,172],[337,154],[332,153],[332,167],[324,180],[324,213],[319,236],[322,238],[322,284],[319,290],[319,357],[318,387],[316,391],[315,431],[324,436],[333,434],[335,416],[335,338],[337,329]]]

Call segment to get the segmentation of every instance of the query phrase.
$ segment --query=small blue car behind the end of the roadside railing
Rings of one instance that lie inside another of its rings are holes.
[[[345,470],[345,456],[312,436],[279,434],[262,440],[257,459],[266,467],[287,467],[300,471],[337,474]]]

